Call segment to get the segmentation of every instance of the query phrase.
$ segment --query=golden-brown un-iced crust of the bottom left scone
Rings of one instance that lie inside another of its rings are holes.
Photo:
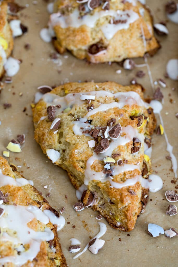
[[[11,167],[12,166],[12,167]],[[9,165],[7,160],[0,157],[0,169],[3,173],[3,175],[10,176],[14,179],[22,178],[22,176],[19,174],[18,171],[15,171],[16,167],[12,164]],[[58,215],[58,211],[53,209],[48,201],[43,198],[41,193],[30,184],[26,184],[23,186],[14,186],[14,185],[4,185],[0,187],[0,199],[3,199],[5,197],[3,205],[22,205],[22,206],[36,206],[39,209],[44,210],[50,210],[54,214]],[[2,197],[3,196],[3,197]],[[2,215],[0,217],[0,220],[3,220]],[[19,221],[20,223],[20,221]],[[37,256],[32,260],[28,260],[25,264],[23,264],[23,267],[29,267],[29,266],[40,266],[40,267],[65,267],[66,260],[61,250],[61,245],[58,238],[57,233],[57,225],[53,225],[53,223],[49,222],[47,225],[44,225],[42,222],[38,221],[36,218],[34,218],[31,222],[28,223],[28,227],[30,229],[33,229],[34,231],[44,231],[44,229],[49,228],[54,233],[54,239],[50,241],[42,241],[40,245],[40,251],[38,252]],[[13,233],[10,229],[7,228],[1,228],[0,233],[0,258],[8,257],[8,256],[17,256],[17,247],[19,245],[24,244],[16,244],[15,242],[6,241],[4,239],[1,239],[3,233],[9,234],[12,239],[16,237],[15,232]],[[28,249],[27,244],[25,245],[25,249]],[[1,264],[0,264],[1,265]],[[14,267],[17,265],[14,265],[11,262],[7,262],[2,264],[3,267]],[[20,265],[18,265],[20,266]]]

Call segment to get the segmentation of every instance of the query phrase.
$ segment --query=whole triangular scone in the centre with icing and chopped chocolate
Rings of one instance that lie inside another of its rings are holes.
[[[46,93],[33,109],[43,153],[68,172],[76,189],[85,184],[79,189],[84,206],[125,231],[134,228],[141,201],[148,199],[144,189],[141,200],[140,181],[151,173],[144,149],[151,146],[156,120],[142,90],[114,82],[68,83]]]

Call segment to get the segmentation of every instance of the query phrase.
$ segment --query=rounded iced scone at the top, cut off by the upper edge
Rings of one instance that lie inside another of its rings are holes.
[[[60,53],[98,63],[155,54],[152,24],[148,7],[136,0],[57,0],[49,28]]]

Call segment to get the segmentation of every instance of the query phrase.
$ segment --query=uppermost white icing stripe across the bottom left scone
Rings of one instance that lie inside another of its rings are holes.
[[[26,180],[25,178],[12,178],[11,176],[4,175],[0,169],[0,187],[5,185],[23,186],[25,184],[33,185],[33,181]]]

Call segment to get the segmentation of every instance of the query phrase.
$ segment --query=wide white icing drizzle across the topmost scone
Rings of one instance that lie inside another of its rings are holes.
[[[99,29],[102,30],[104,36],[109,40],[114,34],[121,29],[128,29],[130,23],[135,22],[139,15],[133,10],[105,10],[105,11],[95,11],[93,15],[86,14],[83,17],[80,17],[78,9],[75,9],[69,15],[61,15],[61,13],[54,13],[50,16],[49,25],[54,27],[55,25],[60,25],[61,28],[74,27],[78,28],[82,25],[86,25],[90,28],[93,28],[98,19],[106,16],[112,16],[116,20],[126,20],[125,23],[111,24],[107,23],[102,25]]]

